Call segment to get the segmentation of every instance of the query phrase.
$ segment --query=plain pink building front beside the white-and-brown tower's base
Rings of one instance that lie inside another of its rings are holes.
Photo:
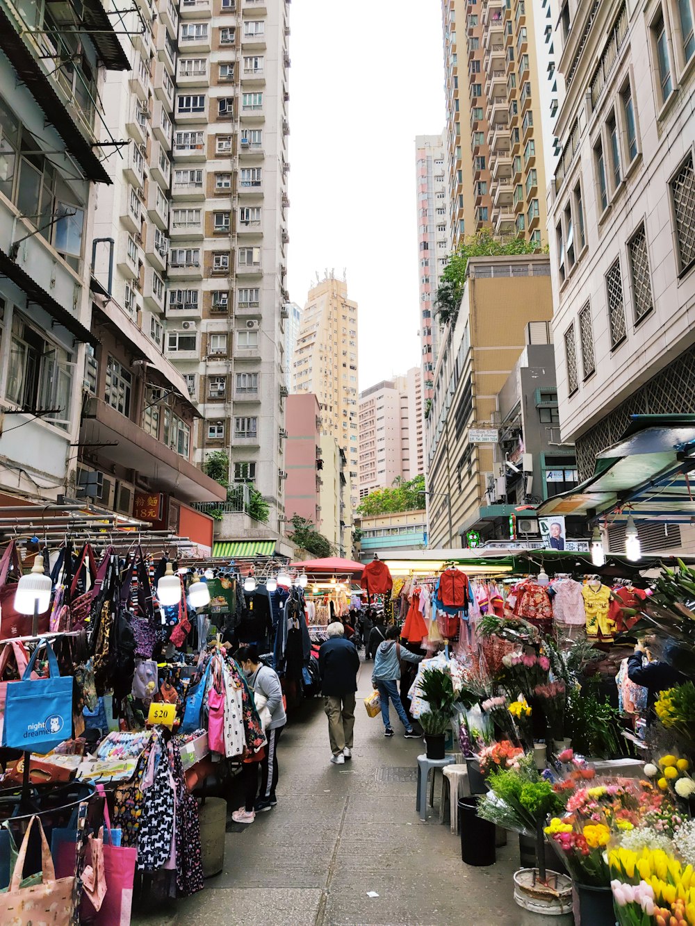
[[[287,439],[284,444],[284,511],[321,524],[321,410],[313,393],[288,395],[285,400]]]

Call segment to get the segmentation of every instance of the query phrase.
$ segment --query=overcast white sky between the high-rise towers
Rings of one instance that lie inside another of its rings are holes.
[[[360,307],[360,390],[420,364],[415,136],[445,120],[440,0],[290,6],[290,299]]]

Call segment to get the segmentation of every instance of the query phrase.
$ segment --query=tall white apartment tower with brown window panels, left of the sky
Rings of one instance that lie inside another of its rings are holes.
[[[170,6],[160,0],[161,19]],[[255,483],[275,529],[284,518],[287,394],[287,8],[286,0],[179,7],[165,344],[203,416],[197,462],[225,450],[230,479]],[[168,119],[160,106],[156,137]]]

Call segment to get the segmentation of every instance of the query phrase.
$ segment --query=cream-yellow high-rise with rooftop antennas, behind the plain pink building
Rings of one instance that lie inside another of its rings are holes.
[[[310,289],[302,312],[292,363],[293,393],[319,399],[322,432],[333,434],[347,457],[347,482],[354,510],[358,492],[357,303],[347,282],[326,275]]]

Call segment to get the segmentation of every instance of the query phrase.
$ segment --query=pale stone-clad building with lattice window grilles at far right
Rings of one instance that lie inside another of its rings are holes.
[[[631,414],[695,412],[693,21],[691,0],[570,2],[555,35],[553,329],[580,479]]]

